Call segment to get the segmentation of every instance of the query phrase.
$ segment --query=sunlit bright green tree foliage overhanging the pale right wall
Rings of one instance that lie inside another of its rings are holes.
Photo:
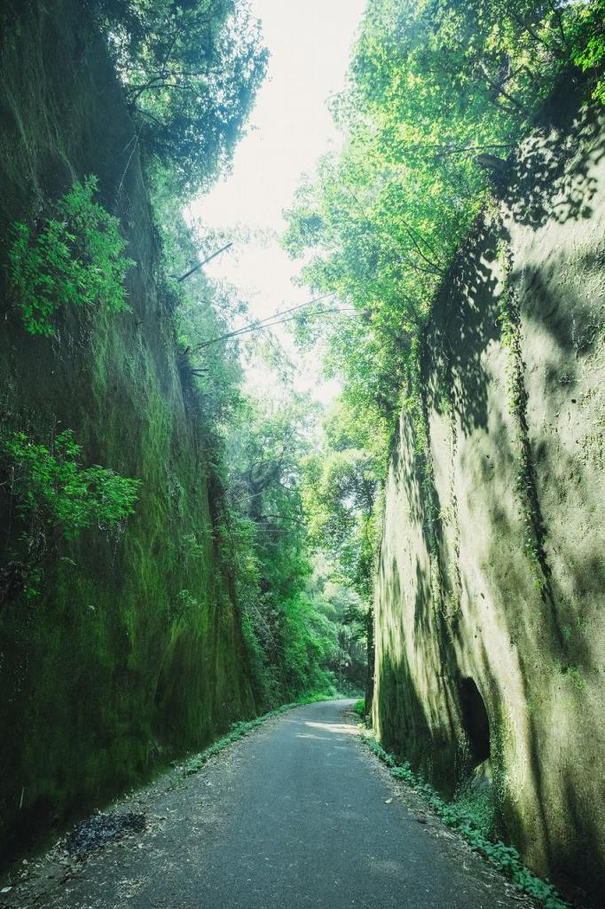
[[[603,49],[602,0],[370,0],[346,90],[344,135],[289,212],[302,281],[335,293],[325,365],[357,407],[392,417],[455,251],[553,85]],[[325,325],[322,323],[322,325]],[[304,342],[313,330],[301,319]],[[322,335],[325,332],[322,328]]]

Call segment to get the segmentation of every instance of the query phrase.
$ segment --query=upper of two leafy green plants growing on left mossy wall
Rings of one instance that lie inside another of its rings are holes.
[[[134,262],[124,255],[118,219],[94,201],[97,186],[94,175],[76,180],[53,217],[35,228],[12,226],[9,283],[30,335],[53,335],[52,316],[63,306],[129,308],[124,277]]]

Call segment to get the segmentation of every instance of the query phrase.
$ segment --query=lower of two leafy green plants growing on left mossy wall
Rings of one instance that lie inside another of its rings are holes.
[[[69,429],[49,446],[25,433],[0,438],[0,493],[21,527],[20,555],[0,565],[0,604],[22,591],[38,593],[40,564],[58,538],[73,540],[94,526],[117,529],[134,513],[139,481],[98,464],[82,467],[81,452]]]

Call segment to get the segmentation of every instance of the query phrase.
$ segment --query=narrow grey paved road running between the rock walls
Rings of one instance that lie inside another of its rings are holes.
[[[59,867],[35,905],[519,909],[509,884],[438,820],[426,823],[357,741],[351,704],[282,714],[174,788],[124,801],[119,810],[146,812],[148,832],[63,877]]]

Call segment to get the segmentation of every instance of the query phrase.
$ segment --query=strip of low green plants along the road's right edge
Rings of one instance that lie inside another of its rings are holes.
[[[353,710],[362,715],[359,704],[362,702],[355,704]],[[408,784],[415,793],[421,796],[431,810],[441,817],[445,824],[462,834],[474,852],[487,858],[501,872],[511,877],[523,893],[538,900],[544,909],[570,909],[570,904],[562,899],[550,881],[542,880],[522,864],[521,856],[514,846],[506,845],[501,840],[488,839],[481,833],[467,810],[455,802],[446,802],[431,784],[425,783],[421,776],[414,774],[410,764],[407,762],[400,764],[394,755],[385,751],[382,744],[365,727],[362,729],[360,737],[362,743],[370,749],[372,754],[375,754],[382,764],[386,764],[394,779]]]

